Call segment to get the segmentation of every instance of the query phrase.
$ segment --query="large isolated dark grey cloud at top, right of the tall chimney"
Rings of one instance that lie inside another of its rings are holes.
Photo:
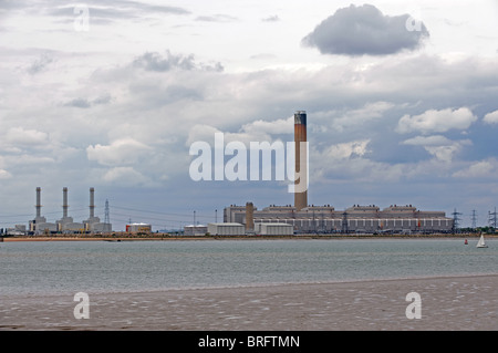
[[[393,54],[415,50],[429,37],[424,23],[413,21],[408,14],[390,17],[372,4],[352,4],[325,19],[302,43],[322,54]]]

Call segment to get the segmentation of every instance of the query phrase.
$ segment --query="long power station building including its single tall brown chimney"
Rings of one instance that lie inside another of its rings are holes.
[[[303,159],[305,154],[300,154],[299,146],[307,141],[307,113],[298,111],[294,114],[295,172],[301,177],[307,176],[302,172],[308,170],[308,159]],[[295,183],[299,181],[303,180]],[[270,231],[269,225],[291,226],[293,233],[442,233],[454,229],[454,219],[444,211],[418,210],[412,205],[391,205],[384,209],[354,205],[335,210],[330,205],[309,205],[308,191],[294,193],[294,206],[272,205],[258,210],[252,203],[231,205],[224,210],[224,222],[243,225],[247,233],[277,231]]]

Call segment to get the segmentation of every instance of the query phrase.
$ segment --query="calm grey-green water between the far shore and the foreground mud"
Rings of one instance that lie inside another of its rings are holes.
[[[498,273],[498,240],[0,243],[0,295],[155,291]]]

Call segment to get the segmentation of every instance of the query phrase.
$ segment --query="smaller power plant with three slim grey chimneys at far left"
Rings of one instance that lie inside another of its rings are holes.
[[[103,233],[111,232],[112,225],[110,222],[101,222],[98,217],[95,217],[94,204],[95,189],[90,188],[90,215],[89,219],[82,222],[75,222],[72,217],[68,216],[68,188],[62,189],[62,218],[56,222],[48,222],[45,217],[41,216],[41,187],[37,187],[37,216],[29,222],[29,231],[32,233]]]

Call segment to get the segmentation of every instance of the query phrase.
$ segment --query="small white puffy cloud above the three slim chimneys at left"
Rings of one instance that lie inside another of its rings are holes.
[[[151,153],[152,147],[135,141],[133,138],[122,138],[113,142],[111,145],[95,145],[86,148],[89,160],[96,160],[101,165],[117,166],[131,165],[141,157]]]

